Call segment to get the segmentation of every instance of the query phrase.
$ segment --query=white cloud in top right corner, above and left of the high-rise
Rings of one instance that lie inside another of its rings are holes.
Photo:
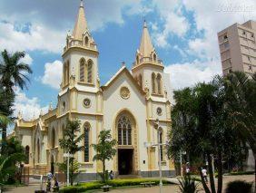
[[[200,57],[219,57],[217,33],[235,23],[256,20],[255,0],[207,1],[183,0],[184,7],[192,11],[196,29],[204,35],[189,41],[191,53]],[[244,7],[244,9],[239,9]],[[247,10],[246,10],[247,7]]]

